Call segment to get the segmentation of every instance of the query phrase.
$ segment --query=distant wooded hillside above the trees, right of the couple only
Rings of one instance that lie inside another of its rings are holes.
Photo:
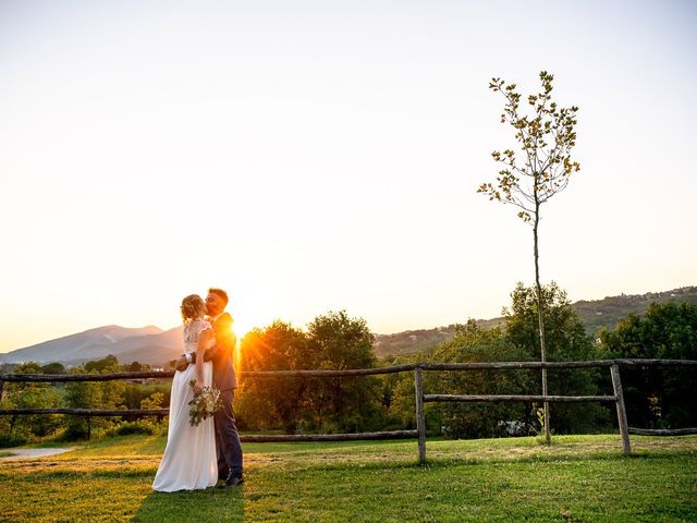
[[[646,294],[622,294],[603,300],[579,301],[572,307],[583,321],[588,332],[597,332],[601,327],[614,328],[616,323],[628,314],[641,315],[651,303],[692,303],[697,304],[697,287],[683,287],[665,292],[647,292]],[[478,319],[481,327],[503,326],[500,318]],[[432,349],[449,341],[455,336],[455,326],[436,327],[433,329],[407,330],[395,335],[376,335],[376,352],[378,357],[391,355],[415,354],[425,349]]]

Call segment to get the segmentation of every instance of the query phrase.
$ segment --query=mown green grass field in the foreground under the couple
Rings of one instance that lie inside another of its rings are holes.
[[[3,522],[695,522],[697,437],[248,443],[235,489],[150,489],[164,438],[0,460]]]

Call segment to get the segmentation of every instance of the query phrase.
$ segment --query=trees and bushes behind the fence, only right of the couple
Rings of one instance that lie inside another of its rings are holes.
[[[549,361],[697,360],[697,305],[653,304],[644,316],[628,315],[596,338],[586,331],[562,289],[552,283],[542,294]],[[518,284],[511,299],[503,311],[503,325],[486,328],[469,320],[456,326],[454,337],[436,348],[380,364],[539,361],[534,290]],[[318,318],[307,331],[283,323],[255,330],[243,340],[244,368],[367,367],[372,360],[366,357],[369,354],[365,350],[356,352],[356,361],[351,360],[352,338],[346,331],[352,321],[342,313]],[[358,323],[365,348],[369,333],[365,324]],[[694,367],[623,368],[629,424],[645,428],[697,426],[697,404],[690,401],[697,393],[694,373]],[[550,369],[548,374],[552,394],[612,394],[607,369]],[[427,372],[425,391],[539,394],[540,372]],[[455,438],[535,434],[540,428],[540,408],[533,403],[427,404],[427,427],[431,435]],[[243,385],[239,403],[243,423],[249,423],[245,428],[281,428],[288,433],[409,429],[415,428],[414,409],[411,373],[331,379],[250,378]],[[557,434],[603,431],[616,423],[613,404],[553,403],[551,413]]]

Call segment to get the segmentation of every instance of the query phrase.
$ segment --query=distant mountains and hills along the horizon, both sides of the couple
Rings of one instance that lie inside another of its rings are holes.
[[[655,302],[697,304],[697,287],[579,301],[573,303],[572,307],[578,314],[586,330],[596,332],[602,327],[613,328],[627,314],[644,314]],[[493,327],[504,323],[502,317],[478,320],[482,327]],[[432,329],[407,330],[394,335],[375,335],[375,346],[379,357],[413,354],[423,349],[437,346],[452,339],[454,333],[455,326],[450,325]],[[70,366],[80,365],[90,360],[100,360],[112,354],[122,364],[140,362],[164,366],[183,350],[181,326],[162,330],[155,326],[125,328],[109,325],[0,354],[0,364],[60,362]]]

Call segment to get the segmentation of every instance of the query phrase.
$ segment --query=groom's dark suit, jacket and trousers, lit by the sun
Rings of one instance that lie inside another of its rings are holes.
[[[234,389],[237,388],[233,363],[237,337],[232,330],[232,316],[228,313],[222,313],[212,319],[211,325],[216,333],[216,345],[206,351],[205,360],[213,364],[213,385],[220,389],[222,400],[222,406],[213,415],[218,477],[224,479],[229,474],[242,477],[242,445],[232,413]],[[196,363],[195,354],[192,354],[192,363]]]

